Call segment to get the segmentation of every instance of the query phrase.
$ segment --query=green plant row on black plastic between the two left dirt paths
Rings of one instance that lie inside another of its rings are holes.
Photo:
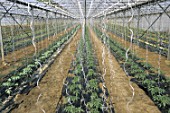
[[[10,75],[7,75],[0,84],[0,101],[5,102],[9,97],[15,97],[18,93],[28,93],[28,91],[36,85],[37,81],[39,81],[40,76],[42,76],[38,74],[38,70],[41,69],[41,66],[48,64],[50,57],[56,53],[78,29],[79,26],[75,27],[65,36],[61,36],[53,42],[53,44],[49,45],[46,50],[42,51],[40,55],[36,56],[34,60],[29,61],[27,65],[22,66]],[[25,92],[25,90],[27,91]],[[3,104],[0,108],[0,112],[6,107],[8,106]]]

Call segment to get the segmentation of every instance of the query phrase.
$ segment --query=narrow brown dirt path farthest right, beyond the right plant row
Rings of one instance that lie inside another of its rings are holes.
[[[123,47],[129,47],[130,42],[123,40],[120,37],[115,36],[113,33],[108,32],[108,35],[122,44]],[[150,63],[153,67],[159,68],[159,54],[150,52],[146,49],[143,49],[135,44],[133,44],[133,48],[135,49],[135,53],[140,57],[144,59],[148,59],[147,62]],[[146,54],[147,53],[147,54]],[[165,73],[165,76],[170,77],[170,66],[168,66],[165,61],[167,60],[166,57],[161,56],[160,59],[160,69]]]

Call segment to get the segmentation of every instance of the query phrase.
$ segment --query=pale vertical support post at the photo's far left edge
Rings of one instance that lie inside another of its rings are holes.
[[[1,44],[2,64],[3,64],[3,65],[6,65],[6,63],[5,63],[5,57],[4,57],[4,46],[3,46],[3,40],[2,40],[2,26],[1,26],[1,19],[0,19],[0,44]]]

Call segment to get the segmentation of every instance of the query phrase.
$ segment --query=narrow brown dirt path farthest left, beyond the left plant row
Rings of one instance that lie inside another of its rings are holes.
[[[72,28],[69,28],[68,31],[70,31]],[[58,37],[64,35],[65,32],[61,32],[57,34],[56,36],[51,36],[48,38],[36,43],[37,50],[41,51],[44,48],[48,47],[48,45],[52,44]],[[2,65],[2,61],[0,61],[0,74],[1,75],[7,75],[13,70],[16,70],[18,67],[22,66],[22,62],[27,62],[28,58],[31,58],[34,54],[34,47],[33,45],[21,48],[19,50],[16,50],[12,53],[9,53],[5,56],[5,60],[9,65],[4,66]],[[0,76],[1,78],[2,76]]]

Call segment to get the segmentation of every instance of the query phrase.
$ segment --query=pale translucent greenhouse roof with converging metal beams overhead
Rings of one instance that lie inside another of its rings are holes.
[[[44,2],[46,1],[46,2]],[[1,0],[0,12],[28,15],[28,6],[49,12],[67,15],[72,18],[101,17],[131,7],[145,7],[141,11],[163,12],[169,7],[169,0]],[[17,3],[17,4],[14,4]],[[154,4],[150,6],[150,4]],[[24,6],[22,6],[24,5]],[[148,5],[148,6],[147,6]],[[21,10],[18,10],[21,9]],[[8,11],[9,10],[9,11]],[[169,9],[168,9],[169,11]]]

